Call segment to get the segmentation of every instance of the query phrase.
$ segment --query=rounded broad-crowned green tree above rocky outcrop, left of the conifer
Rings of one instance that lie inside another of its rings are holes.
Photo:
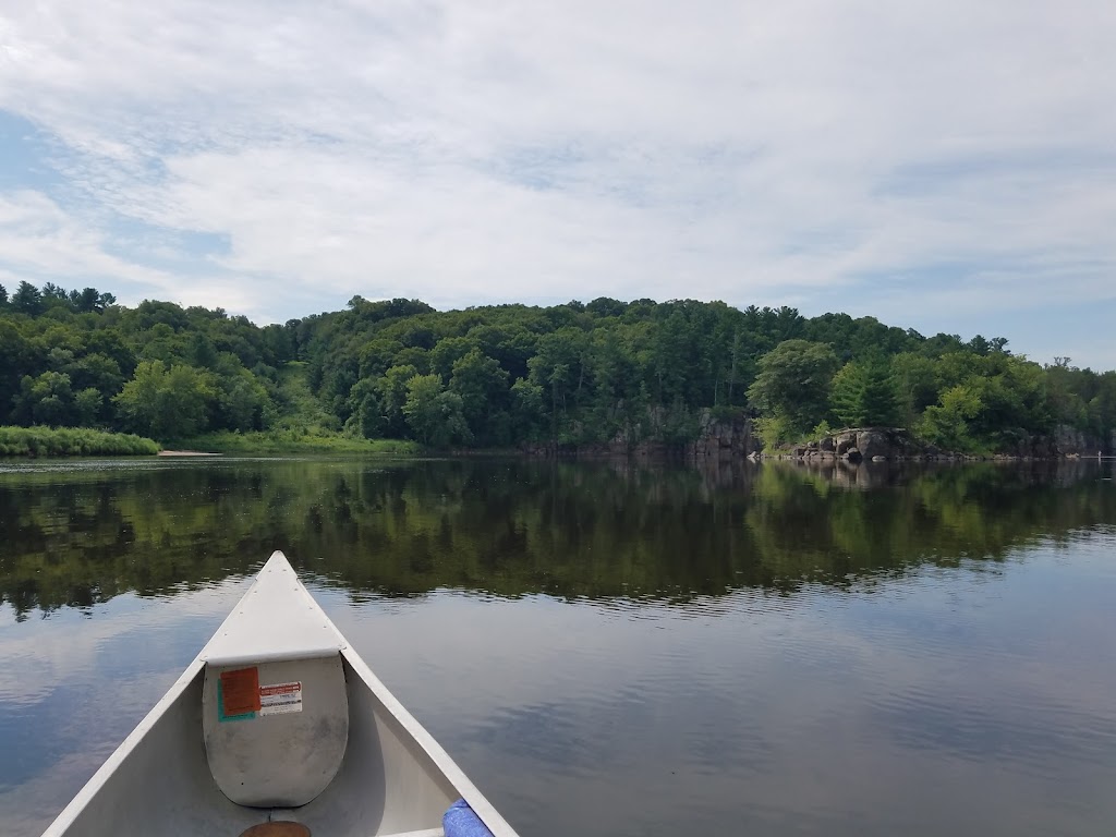
[[[767,417],[778,417],[793,433],[806,433],[829,406],[837,368],[833,349],[821,343],[783,340],[759,360],[748,398]]]

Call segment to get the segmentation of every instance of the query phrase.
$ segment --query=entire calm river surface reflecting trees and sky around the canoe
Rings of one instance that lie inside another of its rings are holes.
[[[0,830],[283,549],[527,837],[1116,824],[1112,463],[0,463]]]

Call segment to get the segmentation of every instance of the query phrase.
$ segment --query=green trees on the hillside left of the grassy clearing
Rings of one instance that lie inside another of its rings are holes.
[[[125,308],[95,288],[0,287],[0,424],[160,441],[261,430],[296,412],[281,392],[291,334],[221,309]]]

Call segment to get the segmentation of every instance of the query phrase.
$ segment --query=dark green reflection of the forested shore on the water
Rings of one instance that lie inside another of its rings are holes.
[[[0,595],[18,617],[253,571],[414,596],[686,602],[1002,560],[1116,522],[1093,462],[703,471],[521,460],[222,460],[0,473]],[[980,565],[974,565],[980,566]]]

